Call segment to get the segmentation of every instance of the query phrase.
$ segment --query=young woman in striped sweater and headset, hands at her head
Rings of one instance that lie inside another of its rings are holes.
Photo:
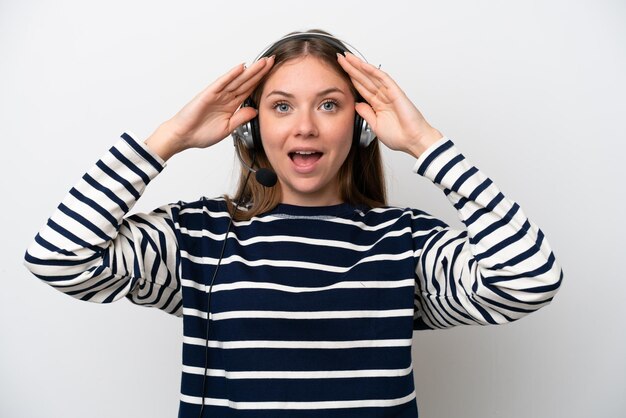
[[[344,51],[324,32],[288,35],[145,142],[124,133],[26,252],[73,297],[182,316],[181,417],[416,417],[414,330],[511,322],[561,283],[519,205]],[[166,160],[233,130],[233,198],[127,216]],[[379,142],[413,156],[467,229],[388,206]],[[274,186],[248,179],[270,169]]]

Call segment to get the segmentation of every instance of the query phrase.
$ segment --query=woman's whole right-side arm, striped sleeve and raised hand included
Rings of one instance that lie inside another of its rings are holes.
[[[446,193],[467,227],[415,216],[414,327],[505,323],[549,303],[563,272],[541,230],[428,124],[388,74],[349,53],[337,59],[367,100],[356,111],[386,146],[417,158],[415,171]]]

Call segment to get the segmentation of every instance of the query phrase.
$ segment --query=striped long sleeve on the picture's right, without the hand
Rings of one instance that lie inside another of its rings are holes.
[[[415,329],[502,324],[550,303],[563,271],[543,232],[516,202],[447,137],[420,155],[413,171],[443,190],[467,228],[432,218],[430,230],[414,227]],[[423,224],[424,215],[414,225]]]

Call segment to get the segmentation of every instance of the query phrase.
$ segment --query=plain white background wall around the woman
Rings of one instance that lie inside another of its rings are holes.
[[[623,1],[0,2],[0,416],[176,416],[181,320],[54,291],[24,251],[125,130],[145,138],[292,30],[382,64],[545,232],[565,272],[513,324],[420,332],[420,417],[626,416]],[[230,140],[168,162],[134,211],[231,192]],[[462,227],[385,152],[391,203]]]

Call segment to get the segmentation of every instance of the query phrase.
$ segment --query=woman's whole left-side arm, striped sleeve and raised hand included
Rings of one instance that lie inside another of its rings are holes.
[[[70,190],[28,247],[24,264],[78,299],[107,303],[123,296],[182,314],[176,219],[180,206],[124,217],[174,154],[225,138],[256,110],[238,109],[270,70],[272,58],[238,65],[217,79],[145,143],[120,139]]]

